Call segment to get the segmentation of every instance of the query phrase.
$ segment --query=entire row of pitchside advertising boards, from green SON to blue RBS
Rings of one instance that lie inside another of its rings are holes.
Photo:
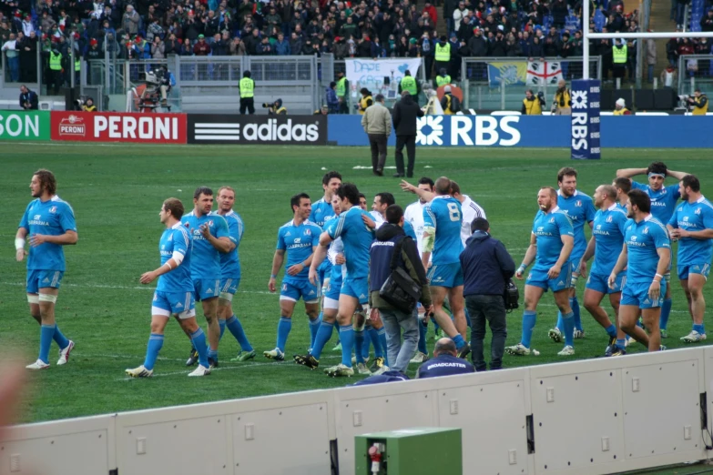
[[[601,116],[601,147],[713,147],[713,116]],[[362,116],[0,111],[0,141],[368,146]],[[425,147],[570,147],[569,116],[424,116]],[[389,145],[395,145],[393,132]]]

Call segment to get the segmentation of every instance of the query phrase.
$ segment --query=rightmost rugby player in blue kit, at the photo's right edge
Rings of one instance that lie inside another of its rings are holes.
[[[706,339],[703,286],[706,285],[713,257],[713,206],[701,194],[698,177],[683,177],[678,188],[683,203],[678,205],[667,227],[671,238],[678,241],[678,279],[686,293],[688,311],[693,319],[693,329],[681,340],[696,343]]]

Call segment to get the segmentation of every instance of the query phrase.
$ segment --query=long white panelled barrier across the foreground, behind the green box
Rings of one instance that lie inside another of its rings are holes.
[[[0,473],[351,475],[355,435],[414,427],[462,428],[468,475],[642,470],[711,456],[712,385],[703,347],[67,419],[10,429]]]

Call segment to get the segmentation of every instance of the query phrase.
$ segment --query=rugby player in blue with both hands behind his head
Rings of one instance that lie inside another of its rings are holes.
[[[648,183],[638,183],[632,180],[631,188],[643,190],[648,195],[651,199],[651,214],[666,225],[676,209],[676,203],[678,198],[681,197],[681,193],[678,190],[678,184],[664,187],[664,180],[666,180],[667,177],[672,177],[680,181],[683,177],[688,175],[688,173],[669,170],[663,162],[652,162],[647,168],[623,168],[616,170],[616,177],[631,178],[637,175],[646,175],[648,177]],[[667,284],[670,283],[670,268],[667,269],[664,276]],[[664,297],[664,304],[661,308],[659,329],[661,331],[661,338],[666,339],[668,338],[668,317],[671,314],[671,286],[665,285],[664,287],[666,288],[666,296]]]

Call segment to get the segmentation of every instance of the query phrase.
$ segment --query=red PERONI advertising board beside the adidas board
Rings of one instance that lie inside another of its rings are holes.
[[[185,144],[185,114],[52,112],[52,140]]]

